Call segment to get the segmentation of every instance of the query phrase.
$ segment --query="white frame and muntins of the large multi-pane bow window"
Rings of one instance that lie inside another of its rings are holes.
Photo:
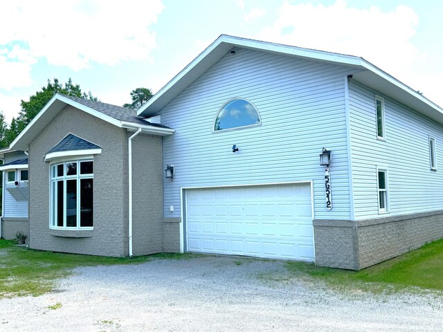
[[[84,162],[84,161],[92,161],[93,162],[93,158],[75,158],[75,159],[70,159],[70,160],[57,160],[57,162],[51,163],[49,165],[49,228],[51,228],[51,230],[93,230],[93,226],[92,227],[80,227],[80,219],[78,219],[77,222],[77,227],[67,227],[66,226],[66,213],[63,214],[63,226],[57,226],[55,225],[55,221],[54,216],[57,214],[57,206],[53,206],[53,197],[55,195],[55,192],[53,192],[53,182],[57,182],[56,179],[60,179],[63,178],[63,188],[64,190],[66,190],[66,180],[69,179],[76,179],[77,181],[77,192],[79,192],[79,187],[80,187],[80,179],[81,178],[94,178],[94,174],[80,174],[80,167],[78,166],[78,172],[76,175],[65,175],[65,171],[66,171],[66,163],[80,163],[80,162]],[[58,165],[63,163],[63,176],[53,176],[52,174],[52,169],[53,166]],[[55,186],[56,187],[56,186]],[[80,197],[80,196],[79,196]],[[63,207],[66,207],[66,195],[63,195]],[[53,210],[54,209],[54,210]],[[77,204],[77,216],[80,216],[80,204]]]

